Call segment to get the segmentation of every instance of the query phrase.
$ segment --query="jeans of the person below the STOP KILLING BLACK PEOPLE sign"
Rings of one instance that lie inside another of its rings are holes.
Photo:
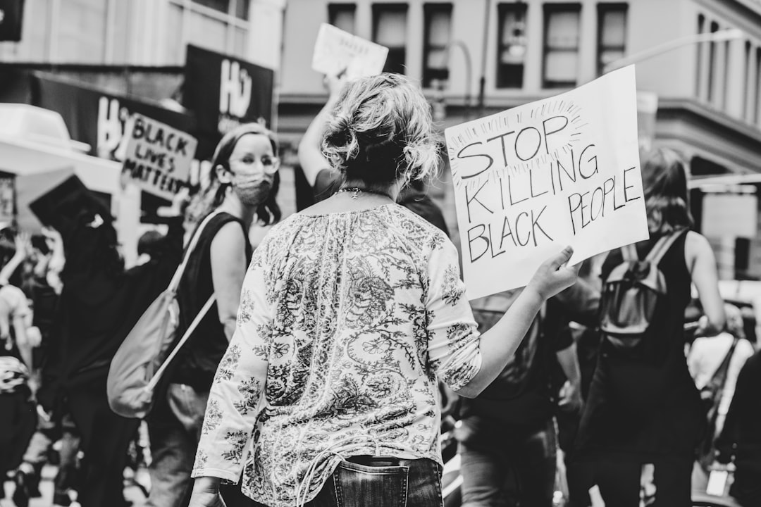
[[[460,442],[463,507],[551,507],[556,474],[552,423],[501,442]]]

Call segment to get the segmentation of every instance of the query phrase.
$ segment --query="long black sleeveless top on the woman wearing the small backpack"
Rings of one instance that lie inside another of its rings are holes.
[[[705,417],[684,355],[684,313],[692,284],[684,258],[686,236],[681,233],[658,264],[666,278],[667,298],[651,324],[658,334],[648,354],[622,356],[606,341],[600,342],[579,429],[577,446],[582,454],[693,456]],[[639,258],[659,237],[637,245]],[[621,262],[620,250],[610,252],[603,264],[603,282]]]

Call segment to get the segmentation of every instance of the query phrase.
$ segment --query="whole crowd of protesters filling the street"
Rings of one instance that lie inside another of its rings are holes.
[[[38,236],[0,231],[0,477],[17,507],[39,495],[54,442],[56,505],[71,491],[82,507],[128,504],[141,422],[110,409],[107,374],[186,236],[177,336],[199,323],[145,419],[145,505],[441,505],[442,392],[466,507],[553,505],[559,449],[568,505],[691,507],[718,467],[756,505],[761,360],[721,299],[677,154],[643,157],[651,239],[575,267],[566,247],[524,289],[469,303],[425,192],[443,150],[419,87],[326,85],[298,147],[315,204],[296,214],[278,205],[275,135],[248,124],[165,233],[142,237],[135,267],[97,206]],[[253,223],[275,224],[256,248]],[[647,328],[610,331],[621,266],[647,261],[663,286]]]

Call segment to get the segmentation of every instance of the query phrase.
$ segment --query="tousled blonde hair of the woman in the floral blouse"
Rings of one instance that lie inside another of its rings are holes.
[[[380,74],[345,85],[322,151],[346,179],[384,184],[434,176],[441,143],[419,86],[400,74]]]

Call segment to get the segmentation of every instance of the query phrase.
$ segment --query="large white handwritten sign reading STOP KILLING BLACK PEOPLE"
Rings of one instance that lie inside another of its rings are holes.
[[[469,299],[648,238],[634,67],[447,128]]]

